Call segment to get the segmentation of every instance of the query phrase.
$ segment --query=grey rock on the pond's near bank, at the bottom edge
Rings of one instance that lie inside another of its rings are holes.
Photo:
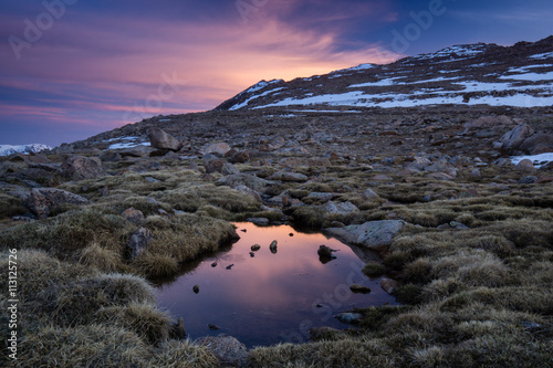
[[[219,359],[222,367],[244,367],[248,361],[248,348],[232,336],[209,336],[198,341]]]

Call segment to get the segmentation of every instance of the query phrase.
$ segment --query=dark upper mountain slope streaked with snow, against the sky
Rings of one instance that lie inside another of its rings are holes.
[[[217,109],[444,104],[553,105],[553,36],[508,48],[484,43],[457,45],[387,65],[362,64],[290,82],[261,81]]]

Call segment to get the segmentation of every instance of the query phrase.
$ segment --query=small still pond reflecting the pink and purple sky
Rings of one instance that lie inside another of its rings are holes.
[[[397,304],[380,288],[379,280],[362,273],[364,263],[356,253],[366,254],[358,249],[354,252],[336,239],[288,225],[234,225],[241,236],[237,243],[202,257],[157,287],[160,307],[181,316],[192,339],[226,334],[248,347],[303,343],[311,327],[347,328],[333,317],[338,313]],[[276,251],[270,250],[273,241]],[[257,252],[251,251],[254,244],[261,245]],[[336,250],[336,259],[321,260],[322,244]],[[372,292],[355,294],[352,284]]]

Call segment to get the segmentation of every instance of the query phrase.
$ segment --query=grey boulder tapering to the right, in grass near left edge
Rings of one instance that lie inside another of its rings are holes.
[[[35,188],[31,190],[28,207],[39,219],[45,219],[52,210],[61,204],[88,204],[86,198],[54,188]]]

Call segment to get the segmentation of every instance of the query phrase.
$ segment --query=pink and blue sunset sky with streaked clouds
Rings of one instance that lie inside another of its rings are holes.
[[[2,1],[0,145],[209,111],[261,80],[538,41],[551,19],[551,0]]]

